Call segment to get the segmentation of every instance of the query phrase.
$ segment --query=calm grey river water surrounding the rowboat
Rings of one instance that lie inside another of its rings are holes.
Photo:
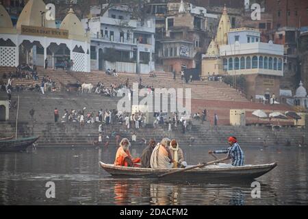
[[[213,160],[207,147],[181,147],[188,164]],[[113,163],[114,147],[38,148],[28,153],[0,153],[0,205],[308,205],[308,149],[242,147],[246,164],[277,162],[257,180],[261,198],[252,198],[251,183],[160,182],[112,179],[99,161]],[[140,155],[142,147],[132,146]],[[47,198],[46,183],[55,183]]]

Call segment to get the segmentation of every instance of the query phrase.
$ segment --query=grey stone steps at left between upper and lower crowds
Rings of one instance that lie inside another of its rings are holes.
[[[53,112],[55,107],[60,112],[61,117],[64,116],[64,109],[66,110],[82,110],[86,107],[85,113],[94,112],[97,114],[100,109],[113,110],[116,109],[118,98],[102,97],[98,94],[76,94],[65,92],[46,92],[44,95],[40,92],[14,92],[12,94],[12,102],[16,102],[20,96],[18,121],[29,122],[31,116],[29,110],[34,108],[35,122],[51,123],[54,122]],[[0,92],[0,99],[7,99],[5,92]],[[16,119],[17,109],[10,110],[10,121]]]

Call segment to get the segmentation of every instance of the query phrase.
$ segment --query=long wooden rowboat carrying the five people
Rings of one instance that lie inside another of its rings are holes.
[[[179,169],[151,169],[151,168],[135,168],[126,166],[114,166],[114,164],[104,164],[99,162],[101,168],[106,170],[114,177],[140,177],[140,178],[157,178],[166,172],[172,172]],[[160,179],[179,179],[181,181],[190,180],[249,180],[256,179],[265,175],[277,166],[276,163],[272,164],[253,164],[245,166],[230,166],[229,164],[217,164],[205,166],[204,168],[195,168],[180,173],[175,173],[162,177]]]

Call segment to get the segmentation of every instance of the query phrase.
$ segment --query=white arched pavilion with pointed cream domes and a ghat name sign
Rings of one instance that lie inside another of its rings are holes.
[[[90,40],[79,18],[70,9],[60,25],[47,18],[42,0],[29,0],[13,27],[8,12],[0,5],[0,66],[21,63],[55,67],[57,62],[73,60],[73,70],[90,72]]]

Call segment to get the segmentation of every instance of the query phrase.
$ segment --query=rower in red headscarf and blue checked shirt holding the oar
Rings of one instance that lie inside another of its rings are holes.
[[[228,157],[232,159],[232,166],[244,166],[244,152],[240,148],[235,137],[229,137],[228,142],[231,147],[218,151],[209,151],[211,153],[227,153]]]

